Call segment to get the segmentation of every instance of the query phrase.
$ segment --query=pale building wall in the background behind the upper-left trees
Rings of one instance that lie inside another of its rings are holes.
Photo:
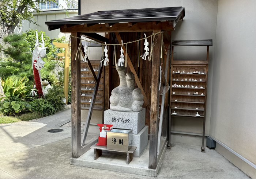
[[[22,27],[15,28],[14,33],[21,33],[26,32],[27,30],[33,29],[38,31],[44,31],[46,32],[46,35],[50,37],[50,39],[59,38],[61,36],[66,36],[66,38],[69,38],[70,34],[64,34],[60,32],[60,29],[49,31],[47,26],[45,25],[45,22],[48,20],[56,20],[56,19],[63,19],[66,17],[72,17],[78,15],[78,10],[72,9],[67,10],[68,13],[66,13],[66,10],[51,10],[51,11],[42,11],[39,14],[34,14],[33,21],[37,24],[34,24],[32,22],[29,22],[27,20],[22,21]]]

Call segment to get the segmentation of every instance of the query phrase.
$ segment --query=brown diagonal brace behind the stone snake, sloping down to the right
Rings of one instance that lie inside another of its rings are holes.
[[[116,34],[116,38],[118,40],[118,43],[122,43],[122,39],[121,39],[120,34],[118,32],[116,32],[115,34]],[[144,102],[145,102],[146,105],[150,105],[150,103],[148,101],[148,98],[147,98],[147,95],[146,95],[146,93],[145,93],[145,91],[143,89],[143,86],[142,86],[142,84],[140,82],[140,79],[139,79],[139,77],[138,77],[138,75],[137,75],[137,73],[136,73],[136,71],[135,71],[135,69],[134,69],[134,67],[132,65],[132,61],[131,61],[131,59],[129,57],[129,54],[126,52],[126,49],[125,49],[124,45],[123,45],[123,50],[124,50],[124,55],[127,54],[127,63],[129,65],[132,73],[134,74],[135,82],[136,82],[137,86],[139,87],[139,89],[141,90],[141,92],[142,92],[142,94],[144,96]]]

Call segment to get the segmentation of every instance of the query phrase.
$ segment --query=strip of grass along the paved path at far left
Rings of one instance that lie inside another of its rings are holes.
[[[40,117],[42,116],[38,115],[37,113],[25,113],[17,116],[4,116],[0,114],[0,124],[8,124],[19,121],[29,121]]]

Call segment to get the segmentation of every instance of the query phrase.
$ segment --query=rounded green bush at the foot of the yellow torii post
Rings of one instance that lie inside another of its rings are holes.
[[[45,99],[53,105],[56,112],[64,109],[64,98],[63,86],[60,85],[54,85],[45,95]]]

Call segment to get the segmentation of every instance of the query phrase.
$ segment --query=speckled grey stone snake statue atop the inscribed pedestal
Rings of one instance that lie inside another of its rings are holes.
[[[143,94],[139,88],[135,89],[134,75],[132,72],[125,74],[125,67],[116,66],[120,78],[120,85],[114,88],[109,98],[110,109],[115,111],[142,110]]]

